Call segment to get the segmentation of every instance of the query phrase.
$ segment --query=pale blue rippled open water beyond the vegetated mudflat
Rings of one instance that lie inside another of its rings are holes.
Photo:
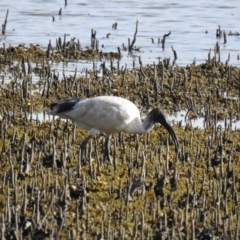
[[[58,12],[62,8],[62,15]],[[91,29],[97,31],[99,46],[103,51],[117,51],[117,47],[128,44],[128,38],[133,39],[136,20],[139,21],[135,46],[140,47],[142,63],[158,61],[158,58],[173,59],[171,46],[177,52],[177,64],[186,66],[194,58],[196,63],[207,59],[209,49],[216,42],[221,47],[221,60],[226,61],[230,54],[230,64],[238,65],[237,56],[240,53],[240,36],[227,36],[216,39],[218,25],[226,33],[239,31],[238,13],[240,4],[235,1],[30,1],[16,4],[14,1],[0,2],[0,23],[5,19],[9,9],[6,36],[1,36],[1,43],[6,46],[18,44],[40,44],[46,48],[49,40],[55,44],[56,38],[67,34],[67,39],[79,39],[82,47],[90,46]],[[55,17],[53,22],[52,16]],[[117,29],[112,24],[117,22]],[[158,38],[171,31],[166,38],[165,49],[158,44]],[[109,38],[106,35],[110,33]],[[151,38],[154,39],[152,43]],[[132,66],[132,57],[123,52],[121,64]],[[138,64],[138,61],[136,61]],[[74,64],[81,68],[81,64]],[[69,69],[70,70],[70,69]]]

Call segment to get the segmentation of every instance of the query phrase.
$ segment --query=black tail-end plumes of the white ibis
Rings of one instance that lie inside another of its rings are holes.
[[[50,109],[55,111],[55,113],[62,113],[70,111],[74,108],[74,106],[83,99],[81,98],[69,98],[64,100],[59,100],[50,105]]]

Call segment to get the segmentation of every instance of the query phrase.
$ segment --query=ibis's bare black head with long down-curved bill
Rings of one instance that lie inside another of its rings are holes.
[[[151,121],[153,123],[160,123],[163,127],[165,127],[167,129],[167,131],[169,132],[169,134],[173,138],[175,148],[176,148],[176,152],[178,152],[178,149],[179,149],[178,138],[177,138],[173,128],[168,123],[165,113],[162,110],[160,110],[158,108],[155,108],[148,114],[148,117],[149,117],[149,119],[151,119]]]

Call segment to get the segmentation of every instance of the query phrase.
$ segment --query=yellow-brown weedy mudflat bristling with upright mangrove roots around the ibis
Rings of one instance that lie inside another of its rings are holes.
[[[240,119],[240,68],[209,54],[200,65],[164,59],[127,69],[120,56],[82,50],[74,39],[46,50],[0,48],[2,238],[239,238],[240,129],[232,125]],[[60,77],[54,64],[71,59],[102,64]],[[112,165],[102,160],[102,135],[81,159],[87,132],[46,112],[57,99],[97,95],[127,98],[143,115],[154,107],[185,110],[186,125],[172,122],[178,155],[155,127],[142,136],[114,135]],[[203,129],[191,125],[197,118]]]

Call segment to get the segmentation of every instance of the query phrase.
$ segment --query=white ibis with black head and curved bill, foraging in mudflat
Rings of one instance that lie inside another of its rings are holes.
[[[82,153],[93,135],[98,132],[106,134],[104,159],[111,162],[109,155],[109,139],[112,133],[143,134],[149,132],[155,123],[167,129],[179,149],[177,136],[167,122],[164,113],[155,108],[151,110],[142,123],[138,108],[131,101],[115,96],[99,96],[89,99],[65,99],[50,105],[48,114],[64,119],[71,119],[77,127],[90,130],[89,136],[82,142]],[[83,154],[82,154],[83,156]]]

